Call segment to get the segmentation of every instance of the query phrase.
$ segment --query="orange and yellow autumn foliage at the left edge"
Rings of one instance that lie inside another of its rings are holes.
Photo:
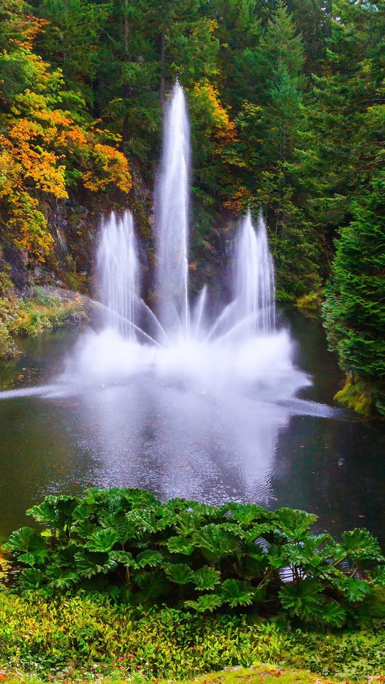
[[[106,131],[81,111],[67,111],[61,71],[32,52],[47,22],[20,14],[12,15],[10,24],[0,53],[5,76],[0,80],[1,219],[16,248],[25,250],[29,259],[44,261],[53,248],[47,205],[66,200],[74,184],[90,192],[116,188],[127,194],[131,174],[126,157],[106,144]],[[14,81],[15,74],[21,75],[23,87],[12,82],[9,94],[8,81]],[[118,136],[113,142],[120,142]]]

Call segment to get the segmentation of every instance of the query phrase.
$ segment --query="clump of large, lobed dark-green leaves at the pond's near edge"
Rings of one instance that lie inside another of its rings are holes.
[[[340,542],[313,534],[317,516],[256,504],[219,508],[140,489],[46,497],[28,511],[44,527],[15,531],[5,549],[21,569],[17,590],[79,592],[130,607],[192,614],[283,614],[295,626],[370,620],[385,557],[365,529]]]

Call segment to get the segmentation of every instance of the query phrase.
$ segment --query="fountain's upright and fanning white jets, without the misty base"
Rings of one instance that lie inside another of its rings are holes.
[[[148,332],[135,323],[155,321],[152,341],[161,347],[200,343],[242,343],[252,337],[274,334],[276,326],[274,267],[262,216],[255,230],[250,210],[241,222],[232,257],[233,301],[227,304],[211,328],[205,330],[208,291],[204,286],[196,305],[189,306],[189,121],[185,95],[176,83],[165,115],[161,170],[157,179],[155,226],[157,265],[155,292],[157,317],[138,294],[138,259],[131,213],[116,219],[114,213],[102,227],[98,247],[98,279],[101,299],[107,307],[106,324],[124,338]],[[152,326],[153,327],[153,326]],[[152,328],[151,328],[152,330]],[[202,349],[200,350],[202,353]]]

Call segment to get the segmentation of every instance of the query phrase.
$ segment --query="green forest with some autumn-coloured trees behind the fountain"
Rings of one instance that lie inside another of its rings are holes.
[[[384,414],[384,36],[383,0],[2,0],[0,347],[31,274],[87,291],[108,208],[131,208],[151,259],[178,79],[191,275],[210,280],[235,216],[262,211],[278,300],[322,307],[345,393]]]

